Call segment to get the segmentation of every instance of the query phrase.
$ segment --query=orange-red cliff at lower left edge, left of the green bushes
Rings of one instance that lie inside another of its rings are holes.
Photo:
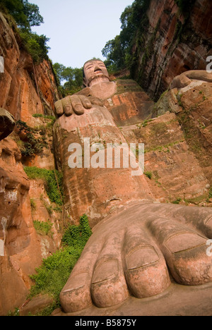
[[[0,142],[0,315],[25,302],[33,281],[31,274],[56,252],[61,236],[59,216],[49,215],[50,205],[42,181],[31,181],[23,171],[16,142]],[[42,199],[41,199],[42,197]],[[33,221],[50,221],[52,236],[38,235]]]

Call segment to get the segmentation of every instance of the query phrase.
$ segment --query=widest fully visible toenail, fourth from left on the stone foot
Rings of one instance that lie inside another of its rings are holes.
[[[179,233],[169,238],[164,245],[170,252],[177,253],[206,245],[206,238],[196,233]]]

